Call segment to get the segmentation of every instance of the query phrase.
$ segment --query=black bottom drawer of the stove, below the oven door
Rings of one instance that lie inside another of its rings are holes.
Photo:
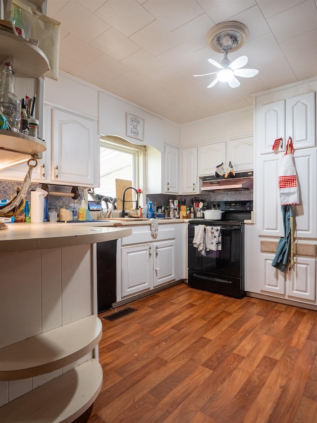
[[[200,270],[188,269],[188,285],[203,291],[227,295],[234,298],[246,296],[241,278],[221,275],[211,275]]]

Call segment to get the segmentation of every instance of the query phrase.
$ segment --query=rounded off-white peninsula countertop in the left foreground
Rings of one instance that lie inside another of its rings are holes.
[[[40,250],[111,241],[132,234],[130,227],[93,223],[8,223],[0,230],[0,252]]]

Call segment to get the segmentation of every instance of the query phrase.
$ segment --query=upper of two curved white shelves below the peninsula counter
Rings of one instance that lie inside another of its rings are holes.
[[[0,349],[0,380],[48,373],[88,354],[100,341],[102,322],[92,315]]]

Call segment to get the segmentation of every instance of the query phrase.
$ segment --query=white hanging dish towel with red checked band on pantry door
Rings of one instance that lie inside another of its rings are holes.
[[[286,153],[281,158],[278,175],[278,189],[281,206],[299,204],[296,170],[293,162],[293,142],[287,140]]]

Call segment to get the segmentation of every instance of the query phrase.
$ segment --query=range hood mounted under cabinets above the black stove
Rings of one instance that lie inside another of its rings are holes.
[[[203,176],[201,191],[253,189],[253,171],[236,173],[235,178]]]

